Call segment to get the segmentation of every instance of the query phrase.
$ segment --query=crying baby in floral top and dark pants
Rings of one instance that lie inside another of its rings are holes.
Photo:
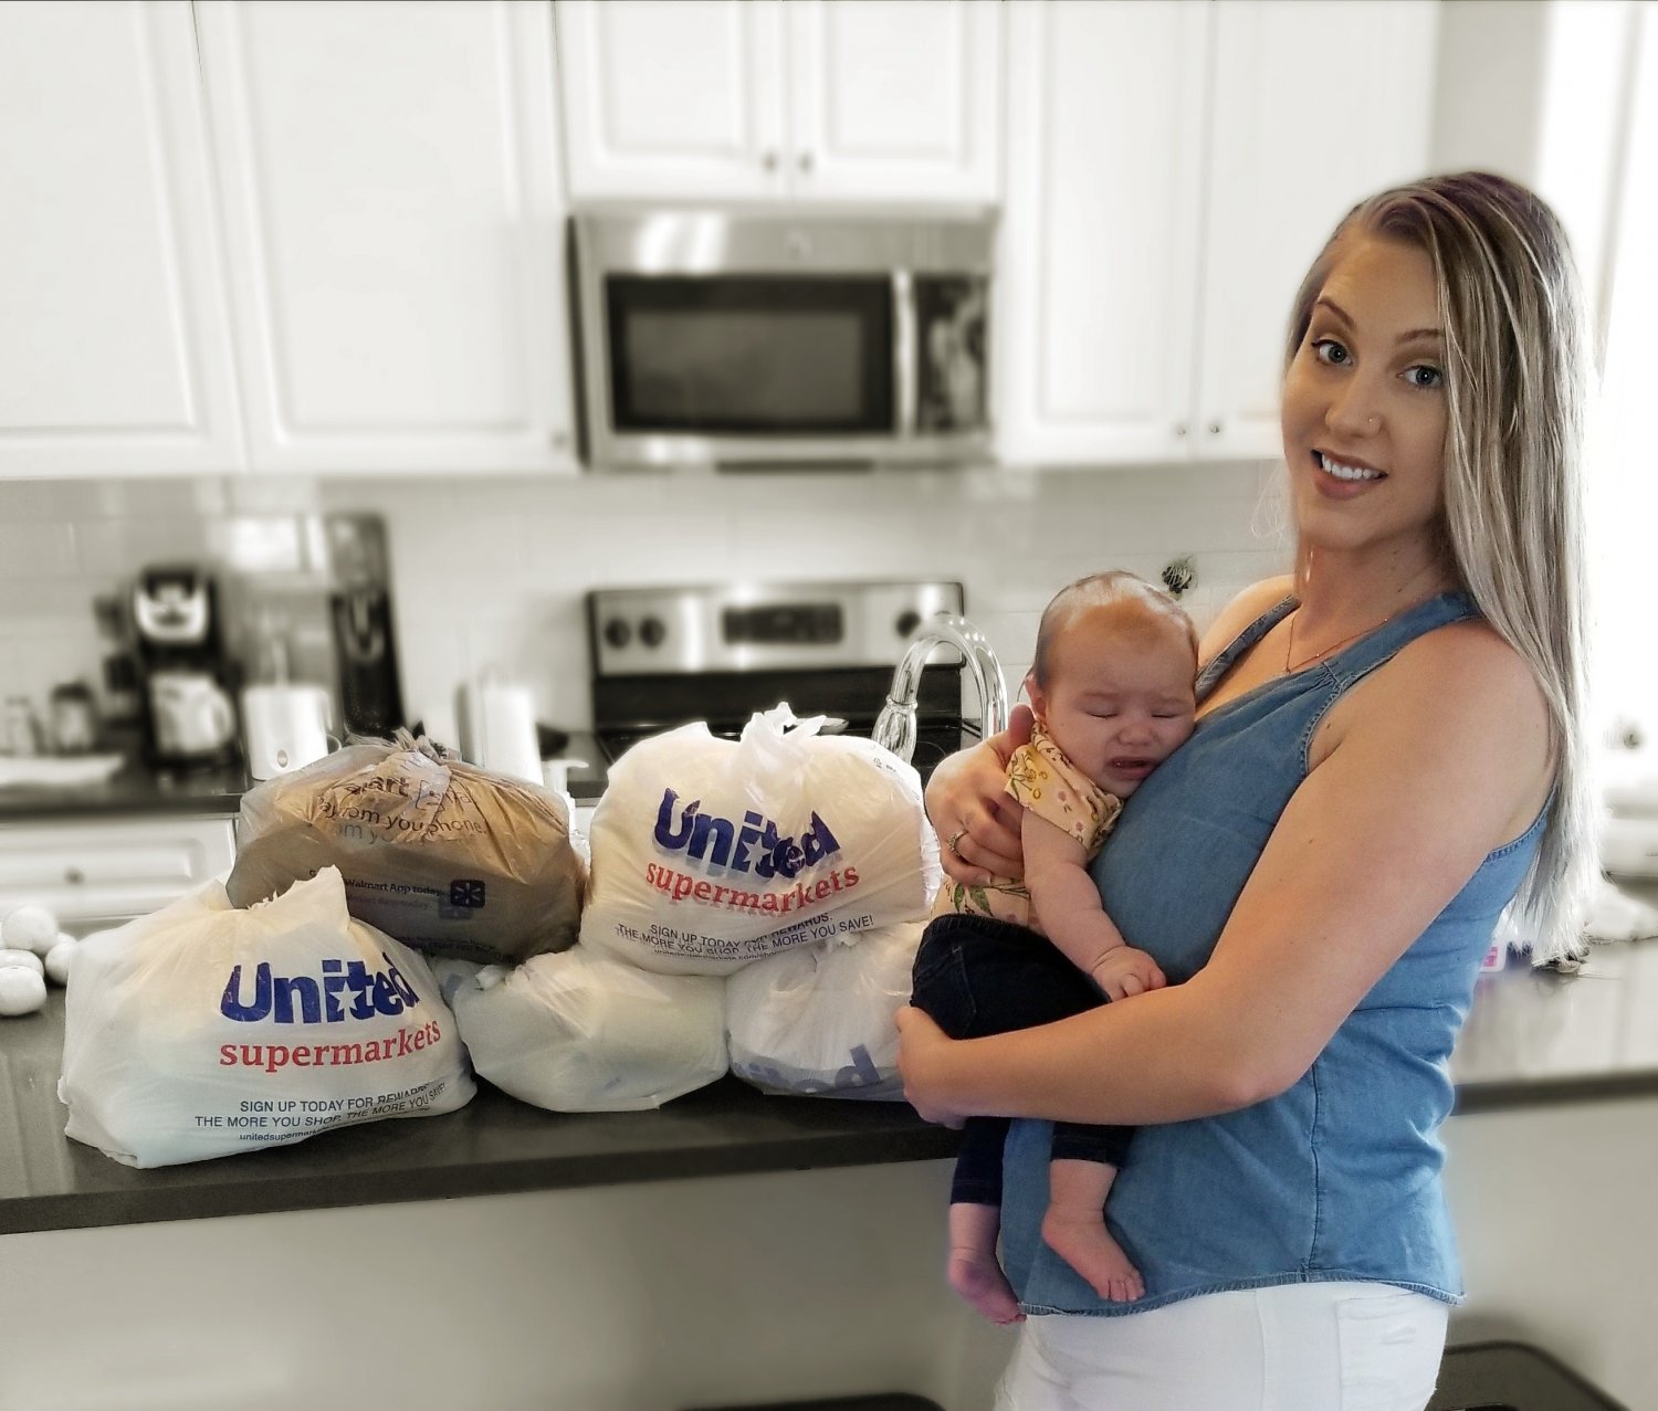
[[[1025,678],[1036,723],[1008,764],[1006,791],[1025,807],[1025,880],[947,879],[915,955],[912,1003],[952,1038],[1051,1023],[1164,983],[1106,915],[1088,864],[1122,799],[1192,733],[1195,675],[1190,618],[1132,574],[1079,579],[1048,604]],[[1006,1129],[1005,1118],[967,1121],[950,1189],[950,1285],[996,1323],[1023,1316],[996,1260]],[[1104,1205],[1127,1139],[1126,1127],[1056,1122],[1043,1217],[1048,1245],[1103,1298],[1124,1302],[1146,1288]]]

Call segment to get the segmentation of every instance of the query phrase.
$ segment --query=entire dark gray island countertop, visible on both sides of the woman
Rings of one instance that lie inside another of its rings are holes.
[[[650,1113],[560,1114],[487,1083],[461,1111],[133,1171],[63,1136],[63,992],[0,1020],[0,1234],[511,1190],[930,1161],[957,1134],[902,1103],[766,1096],[734,1078]],[[1658,942],[1580,975],[1486,977],[1452,1064],[1457,1114],[1658,1093]]]

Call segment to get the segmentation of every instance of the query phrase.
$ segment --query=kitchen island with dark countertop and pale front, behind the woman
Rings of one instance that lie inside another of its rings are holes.
[[[990,1406],[1008,1335],[940,1273],[955,1134],[902,1104],[728,1078],[567,1116],[479,1084],[446,1116],[131,1171],[63,1137],[60,1041],[61,996],[0,1028],[3,1408]],[[1658,943],[1486,977],[1456,1068],[1452,1341],[1532,1341],[1658,1406]],[[71,1370],[73,1328],[99,1355]]]

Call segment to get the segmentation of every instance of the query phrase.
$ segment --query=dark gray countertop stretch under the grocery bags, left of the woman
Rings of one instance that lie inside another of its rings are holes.
[[[734,1078],[650,1113],[547,1113],[479,1081],[458,1113],[134,1171],[63,1136],[63,992],[0,1020],[0,1234],[509,1190],[927,1161],[957,1134],[904,1103],[774,1098]]]

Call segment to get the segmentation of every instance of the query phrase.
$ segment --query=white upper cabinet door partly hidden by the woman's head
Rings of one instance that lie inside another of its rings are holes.
[[[1214,8],[1197,451],[1272,458],[1302,275],[1356,201],[1428,167],[1437,12],[1433,0]]]

